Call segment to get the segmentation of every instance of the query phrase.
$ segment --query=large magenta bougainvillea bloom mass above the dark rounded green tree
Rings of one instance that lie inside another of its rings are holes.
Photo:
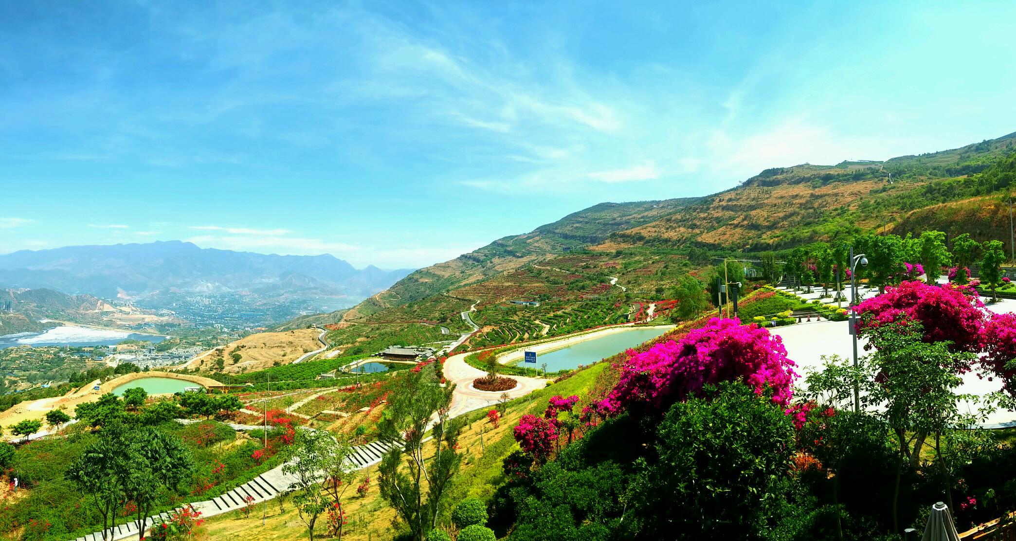
[[[680,341],[628,354],[618,385],[595,405],[604,416],[633,408],[661,414],[675,402],[699,396],[706,385],[737,380],[756,394],[771,389],[772,401],[786,406],[798,378],[779,336],[736,319],[713,318]]]

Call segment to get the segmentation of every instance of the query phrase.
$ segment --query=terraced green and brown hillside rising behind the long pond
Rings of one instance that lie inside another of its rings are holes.
[[[473,344],[517,341],[662,306],[680,274],[702,271],[714,256],[890,228],[1006,238],[1002,198],[1016,181],[1014,141],[1016,133],[886,161],[773,167],[704,198],[601,203],[418,270],[343,321],[464,332],[458,314],[475,303],[483,330]],[[623,288],[611,286],[615,278]],[[519,300],[541,305],[512,302]],[[355,331],[346,333],[350,340]]]

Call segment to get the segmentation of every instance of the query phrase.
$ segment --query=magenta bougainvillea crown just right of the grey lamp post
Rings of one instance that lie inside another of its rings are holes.
[[[924,328],[925,342],[948,340],[954,351],[977,351],[986,320],[983,306],[965,285],[949,283],[939,287],[914,280],[887,287],[885,293],[864,300],[854,310],[863,316],[858,323],[862,332],[913,320]]]

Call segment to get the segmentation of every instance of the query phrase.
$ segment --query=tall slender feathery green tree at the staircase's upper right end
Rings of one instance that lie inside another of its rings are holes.
[[[446,490],[462,462],[455,451],[462,423],[448,418],[454,388],[439,385],[434,363],[419,373],[410,371],[378,424],[381,437],[403,443],[401,449],[392,449],[381,460],[381,495],[419,541],[437,527]],[[435,414],[437,422],[431,441],[434,452],[428,458],[424,439]]]

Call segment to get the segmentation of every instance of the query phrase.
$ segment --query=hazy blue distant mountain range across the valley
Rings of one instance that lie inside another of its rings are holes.
[[[180,308],[181,298],[194,295],[242,298],[241,305],[262,311],[284,302],[294,312],[289,317],[353,306],[409,272],[356,269],[331,255],[254,254],[180,241],[0,255],[2,287],[50,288],[171,310]],[[321,300],[319,308],[314,299]]]

